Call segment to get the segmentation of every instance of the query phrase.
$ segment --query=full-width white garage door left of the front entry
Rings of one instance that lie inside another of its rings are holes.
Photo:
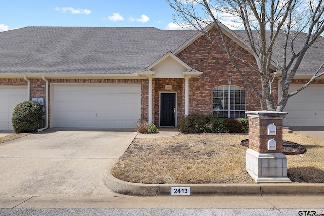
[[[51,127],[135,128],[140,84],[53,84]]]

